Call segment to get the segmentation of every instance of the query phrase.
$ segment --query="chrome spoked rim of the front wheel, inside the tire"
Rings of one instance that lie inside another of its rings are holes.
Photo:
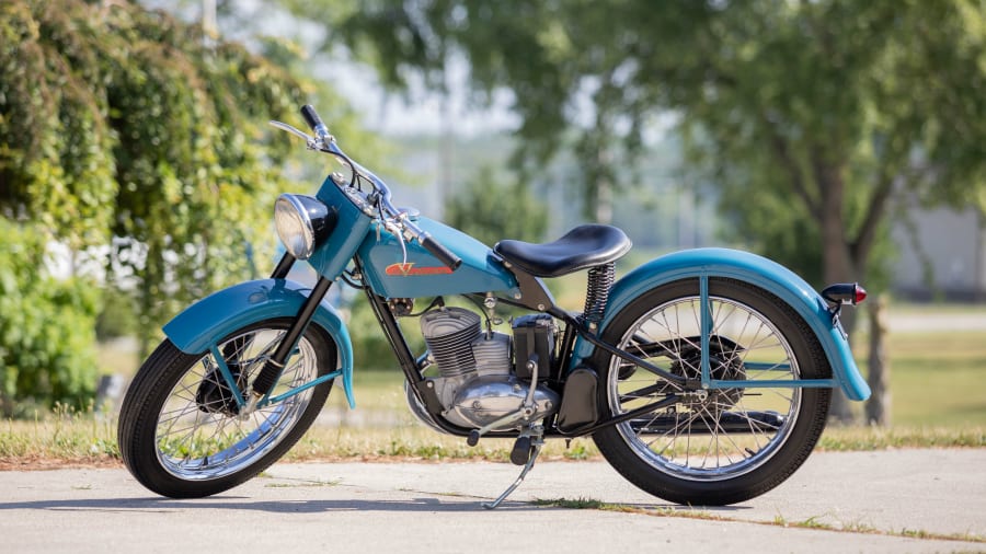
[[[219,345],[233,345],[237,359],[252,381],[284,336],[284,330],[260,328]],[[154,445],[158,461],[170,474],[185,481],[208,481],[234,474],[273,450],[295,426],[312,396],[308,389],[284,401],[257,408],[245,418],[205,412],[196,402],[196,391],[215,379],[211,354],[199,358],[175,383],[158,415]],[[312,345],[302,336],[271,397],[283,394],[318,374]],[[211,376],[211,377],[210,377]]]

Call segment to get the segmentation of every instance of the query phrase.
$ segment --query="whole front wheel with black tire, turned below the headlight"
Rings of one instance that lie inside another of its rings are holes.
[[[274,353],[291,321],[268,320],[220,341],[218,351],[245,385]],[[271,397],[335,368],[335,344],[309,326]],[[144,486],[172,498],[221,493],[284,455],[308,430],[332,381],[240,416],[213,354],[190,355],[164,341],[134,378],[119,414],[121,457]]]

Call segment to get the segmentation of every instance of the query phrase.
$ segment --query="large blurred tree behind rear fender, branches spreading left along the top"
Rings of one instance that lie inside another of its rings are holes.
[[[743,236],[815,284],[874,275],[902,197],[981,201],[977,2],[337,3],[321,3],[336,8],[331,39],[372,53],[388,82],[465,56],[478,93],[513,91],[518,135],[540,147],[527,152],[578,129],[588,204],[618,185],[649,119],[676,114],[691,170]]]

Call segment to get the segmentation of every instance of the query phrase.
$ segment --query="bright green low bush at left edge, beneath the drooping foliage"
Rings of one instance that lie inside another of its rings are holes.
[[[88,406],[98,377],[96,289],[46,275],[43,233],[0,218],[0,412]]]

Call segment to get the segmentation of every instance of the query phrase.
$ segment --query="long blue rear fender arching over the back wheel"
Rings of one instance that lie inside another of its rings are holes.
[[[833,323],[825,300],[801,277],[782,265],[756,254],[727,249],[696,249],[653,259],[627,274],[609,295],[600,334],[623,308],[654,287],[689,277],[727,277],[769,290],[791,305],[822,343],[833,377],[851,400],[870,396],[870,386],[859,373],[849,343]],[[593,354],[593,346],[578,338],[573,367]]]

